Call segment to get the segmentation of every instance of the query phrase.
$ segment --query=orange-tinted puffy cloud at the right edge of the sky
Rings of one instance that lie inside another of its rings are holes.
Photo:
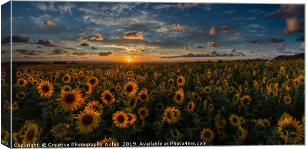
[[[293,33],[304,32],[304,19],[298,19],[297,17],[287,18],[286,19],[287,27],[281,31],[279,30],[278,33],[282,33],[285,35],[290,35]]]

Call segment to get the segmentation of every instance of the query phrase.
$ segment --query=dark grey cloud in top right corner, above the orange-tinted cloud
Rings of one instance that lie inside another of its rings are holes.
[[[303,14],[304,11],[304,4],[281,4],[278,10],[267,13],[266,16],[291,18]]]

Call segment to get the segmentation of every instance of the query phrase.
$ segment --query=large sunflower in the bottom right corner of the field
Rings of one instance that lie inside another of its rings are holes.
[[[292,116],[285,117],[278,121],[279,138],[283,139],[286,143],[297,144],[302,141],[304,136],[304,126],[299,125],[300,121],[293,119]]]

